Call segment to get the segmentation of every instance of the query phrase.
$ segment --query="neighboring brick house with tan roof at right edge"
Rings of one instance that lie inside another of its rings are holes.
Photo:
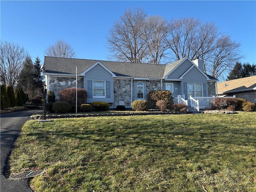
[[[256,103],[256,75],[218,83],[219,96],[233,96]]]

